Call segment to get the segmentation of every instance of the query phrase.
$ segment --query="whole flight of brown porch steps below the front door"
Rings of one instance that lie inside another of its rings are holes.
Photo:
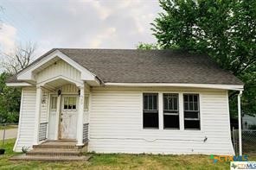
[[[88,161],[90,155],[86,153],[87,144],[76,146],[74,140],[47,141],[34,145],[26,154],[16,155],[11,161]]]

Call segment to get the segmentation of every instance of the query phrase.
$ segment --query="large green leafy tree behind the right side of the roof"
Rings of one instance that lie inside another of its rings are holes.
[[[242,109],[256,114],[256,1],[160,0],[163,12],[152,23],[163,49],[208,54],[243,80]],[[230,94],[231,112],[236,108]]]

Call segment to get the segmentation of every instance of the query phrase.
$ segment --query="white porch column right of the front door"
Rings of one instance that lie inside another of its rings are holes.
[[[78,107],[78,116],[77,116],[77,146],[83,146],[83,123],[84,123],[84,94],[85,94],[85,85],[84,83],[79,87],[80,88],[80,98],[79,98],[79,107]]]

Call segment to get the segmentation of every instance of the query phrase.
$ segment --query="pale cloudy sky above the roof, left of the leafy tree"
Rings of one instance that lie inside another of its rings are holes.
[[[51,48],[136,48],[156,42],[157,0],[0,0],[0,52],[33,42]]]

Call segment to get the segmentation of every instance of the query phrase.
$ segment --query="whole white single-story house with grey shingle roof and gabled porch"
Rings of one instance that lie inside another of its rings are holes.
[[[75,139],[97,153],[234,154],[227,92],[243,83],[204,55],[58,48],[7,85],[22,87],[15,151]]]

